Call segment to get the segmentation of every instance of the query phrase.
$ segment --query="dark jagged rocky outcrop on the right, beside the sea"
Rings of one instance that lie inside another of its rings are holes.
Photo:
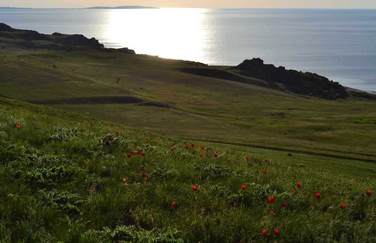
[[[337,99],[348,96],[346,89],[338,82],[315,73],[302,73],[296,70],[286,70],[285,67],[274,67],[264,64],[260,58],[246,59],[232,69],[238,69],[240,75],[272,81],[284,85],[288,91],[324,99]]]

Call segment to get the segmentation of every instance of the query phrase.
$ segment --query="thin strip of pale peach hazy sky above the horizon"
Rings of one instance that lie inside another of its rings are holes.
[[[372,8],[376,0],[0,0],[3,7],[86,8],[94,6],[159,8]]]

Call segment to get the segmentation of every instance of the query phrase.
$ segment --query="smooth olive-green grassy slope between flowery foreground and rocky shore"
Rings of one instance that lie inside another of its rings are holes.
[[[376,100],[318,99],[227,67],[88,48],[9,44],[0,64],[4,97],[179,138],[376,162]]]

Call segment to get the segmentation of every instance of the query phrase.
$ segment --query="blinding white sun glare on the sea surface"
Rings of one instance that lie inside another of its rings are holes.
[[[136,53],[198,61],[205,49],[208,9],[115,9],[108,12],[106,35],[111,46]]]

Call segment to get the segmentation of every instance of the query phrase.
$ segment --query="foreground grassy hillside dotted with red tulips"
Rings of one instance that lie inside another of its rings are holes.
[[[0,128],[5,243],[375,242],[364,179],[9,99]]]

